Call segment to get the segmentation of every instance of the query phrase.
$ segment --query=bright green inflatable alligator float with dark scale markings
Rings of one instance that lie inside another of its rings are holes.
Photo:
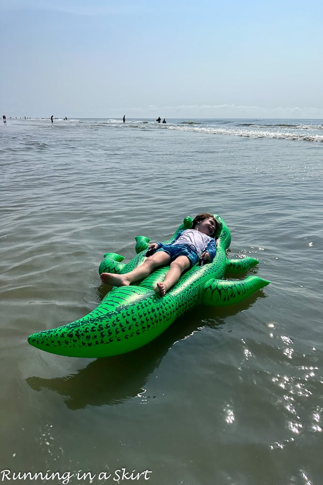
[[[254,291],[269,284],[258,276],[244,280],[225,280],[226,273],[244,273],[258,259],[246,257],[228,259],[226,250],[231,243],[229,228],[219,215],[214,260],[203,266],[195,265],[186,271],[165,296],[153,289],[163,280],[169,267],[156,270],[138,285],[113,287],[100,305],[75,322],[44,330],[29,336],[28,342],[38,349],[70,357],[108,357],[138,349],[154,340],[171,323],[196,305],[213,307],[232,305],[248,298]],[[192,226],[186,217],[178,231]],[[165,241],[169,243],[173,238]],[[99,267],[99,274],[127,273],[145,259],[150,239],[136,237],[137,255],[127,264],[123,256],[108,253]]]

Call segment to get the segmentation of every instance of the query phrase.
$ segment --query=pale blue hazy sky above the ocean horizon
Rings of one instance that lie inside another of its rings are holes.
[[[322,0],[0,0],[7,117],[323,119]]]

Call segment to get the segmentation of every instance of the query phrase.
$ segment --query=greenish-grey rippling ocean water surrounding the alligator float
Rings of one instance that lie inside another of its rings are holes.
[[[167,121],[0,125],[1,482],[322,483],[323,120]],[[123,356],[29,346],[204,210],[269,286]]]

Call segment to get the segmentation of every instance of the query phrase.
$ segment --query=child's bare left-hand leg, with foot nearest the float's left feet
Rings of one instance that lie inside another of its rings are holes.
[[[153,256],[149,256],[145,261],[137,266],[134,270],[124,275],[115,275],[114,273],[101,273],[101,280],[108,285],[128,286],[135,281],[144,279],[146,276],[161,266],[166,266],[170,262],[170,256],[165,251],[157,251]]]

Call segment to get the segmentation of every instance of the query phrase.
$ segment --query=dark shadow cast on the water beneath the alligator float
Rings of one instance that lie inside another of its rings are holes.
[[[102,287],[100,292],[104,296],[104,285]],[[189,315],[173,323],[156,340],[134,352],[96,359],[75,374],[51,379],[33,376],[28,377],[26,382],[36,391],[47,388],[61,394],[69,409],[123,403],[128,398],[145,392],[148,377],[158,368],[174,342],[186,339],[204,327],[221,330],[226,317],[250,308],[259,298],[265,296],[263,290],[260,290],[246,301],[230,307],[195,308]],[[199,315],[201,309],[204,315],[203,326],[197,327],[194,314]]]

